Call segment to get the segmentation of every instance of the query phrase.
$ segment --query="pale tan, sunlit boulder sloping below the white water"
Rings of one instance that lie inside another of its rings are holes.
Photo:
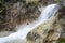
[[[27,43],[57,43],[62,32],[62,23],[57,16],[40,25],[27,34]],[[53,22],[52,22],[53,20]],[[37,38],[37,35],[39,35]]]

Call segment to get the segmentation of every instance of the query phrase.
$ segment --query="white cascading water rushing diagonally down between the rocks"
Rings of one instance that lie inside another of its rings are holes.
[[[58,8],[60,6],[57,4],[48,5],[46,9],[43,9],[41,11],[39,18],[36,22],[34,22],[29,25],[17,27],[20,30],[17,30],[16,32],[14,32],[8,37],[0,38],[0,43],[9,43],[9,42],[15,41],[17,39],[20,39],[20,40],[26,39],[26,35],[29,31],[31,31],[32,29],[35,29],[35,27],[39,26],[40,24],[48,20],[51,16],[53,16],[56,13],[56,11],[58,10]]]

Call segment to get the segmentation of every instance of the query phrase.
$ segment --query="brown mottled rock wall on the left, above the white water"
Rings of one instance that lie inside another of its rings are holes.
[[[11,1],[11,2],[10,2]],[[32,3],[26,4],[25,2],[15,2],[15,1],[5,1],[4,4],[4,13],[0,15],[1,17],[1,29],[6,31],[13,31],[17,25],[29,23],[36,20],[40,11],[38,10],[38,5]]]

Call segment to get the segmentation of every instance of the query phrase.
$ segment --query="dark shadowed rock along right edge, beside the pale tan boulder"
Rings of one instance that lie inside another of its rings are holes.
[[[60,19],[61,19],[61,24],[62,24],[62,27],[63,27],[63,31],[62,31],[62,35],[61,38],[65,39],[65,6],[62,6],[60,10]]]

